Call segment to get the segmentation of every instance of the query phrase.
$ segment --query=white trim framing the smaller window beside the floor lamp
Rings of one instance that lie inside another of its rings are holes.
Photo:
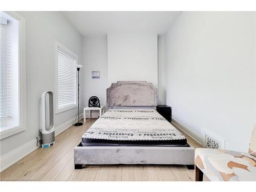
[[[65,46],[61,45],[58,41],[55,41],[55,114],[58,113],[62,113],[65,111],[69,111],[72,110],[74,108],[77,108],[78,104],[77,104],[77,89],[76,89],[76,104],[75,105],[71,105],[71,106],[67,106],[65,108],[61,108],[58,109],[58,47],[60,47],[61,50],[63,50],[64,52],[68,53],[70,56],[74,57],[76,59],[76,63],[78,62],[78,56],[73,53],[72,51],[70,51],[68,48],[66,48]],[[77,73],[76,73],[76,87],[77,87]]]

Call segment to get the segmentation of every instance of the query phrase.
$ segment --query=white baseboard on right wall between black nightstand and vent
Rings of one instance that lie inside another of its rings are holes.
[[[201,134],[197,133],[191,127],[185,125],[184,123],[180,122],[178,119],[172,117],[172,123],[175,124],[178,129],[185,132],[187,135],[189,135],[192,139],[194,139],[197,143],[201,145],[202,136]]]

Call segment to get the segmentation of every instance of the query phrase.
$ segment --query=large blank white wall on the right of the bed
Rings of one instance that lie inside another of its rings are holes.
[[[254,27],[253,12],[183,12],[165,37],[173,116],[245,152],[255,113]]]

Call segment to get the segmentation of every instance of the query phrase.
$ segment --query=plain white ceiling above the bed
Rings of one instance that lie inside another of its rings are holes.
[[[84,36],[110,32],[155,32],[164,34],[179,11],[65,11],[71,24]]]

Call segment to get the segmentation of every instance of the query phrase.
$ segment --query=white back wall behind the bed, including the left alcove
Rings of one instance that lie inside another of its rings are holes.
[[[111,33],[107,36],[83,37],[83,106],[91,96],[106,105],[106,88],[118,80],[146,80],[158,84],[157,35]],[[92,71],[100,71],[92,79]],[[87,114],[89,115],[89,114]],[[98,117],[97,111],[92,117]]]

